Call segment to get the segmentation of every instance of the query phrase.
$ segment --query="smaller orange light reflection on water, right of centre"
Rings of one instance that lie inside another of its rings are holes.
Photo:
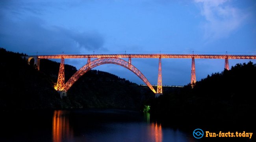
[[[150,125],[150,136],[152,140],[155,140],[155,142],[162,142],[163,133],[161,124],[152,123]]]

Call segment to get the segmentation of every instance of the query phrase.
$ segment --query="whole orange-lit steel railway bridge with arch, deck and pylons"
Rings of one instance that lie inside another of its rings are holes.
[[[55,89],[60,92],[62,95],[67,95],[67,91],[70,87],[81,77],[83,74],[88,72],[90,69],[95,68],[103,64],[116,64],[122,67],[127,68],[128,70],[134,72],[147,86],[156,94],[156,97],[161,95],[162,92],[162,69],[161,69],[161,58],[191,58],[191,86],[193,87],[196,83],[196,74],[195,74],[195,59],[224,59],[225,64],[224,68],[229,70],[228,59],[256,59],[256,55],[206,55],[206,54],[59,54],[59,55],[38,55],[38,56],[27,56],[28,63],[31,63],[33,59],[35,65],[39,70],[40,68],[40,59],[61,59],[58,81]],[[73,59],[73,58],[87,58],[87,64],[80,68],[70,79],[65,83],[65,71],[64,71],[64,59]],[[96,58],[91,61],[91,58]],[[128,58],[128,61],[125,61],[121,58]],[[147,78],[132,65],[132,58],[158,58],[158,83],[157,90],[155,90],[152,85],[149,83]]]

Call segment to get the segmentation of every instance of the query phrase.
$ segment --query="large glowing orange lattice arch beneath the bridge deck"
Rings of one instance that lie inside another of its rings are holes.
[[[106,57],[106,58],[98,58],[95,59],[86,65],[84,65],[82,68],[80,68],[65,84],[65,89],[68,91],[70,87],[81,77],[83,74],[88,72],[90,69],[95,68],[99,65],[103,64],[115,64],[120,65],[122,67],[127,68],[128,70],[132,71],[134,74],[136,74],[147,86],[156,93],[156,90],[152,87],[152,85],[149,83],[148,79],[132,64],[128,63],[127,61],[120,59],[120,58],[114,58],[114,57]]]

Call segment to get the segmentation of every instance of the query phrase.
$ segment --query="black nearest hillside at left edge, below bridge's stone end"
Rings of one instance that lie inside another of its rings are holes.
[[[21,54],[0,49],[0,110],[61,108],[52,81]]]

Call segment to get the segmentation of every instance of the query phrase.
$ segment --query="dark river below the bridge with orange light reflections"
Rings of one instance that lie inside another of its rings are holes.
[[[128,110],[19,111],[2,114],[1,142],[194,142],[191,133]]]

